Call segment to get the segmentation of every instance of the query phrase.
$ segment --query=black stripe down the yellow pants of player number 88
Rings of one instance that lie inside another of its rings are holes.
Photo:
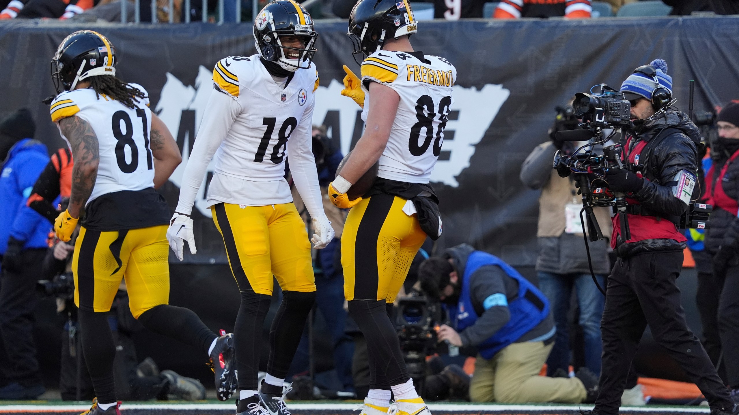
[[[354,299],[377,300],[380,282],[377,267],[377,241],[395,196],[372,196],[357,228],[354,246]]]

